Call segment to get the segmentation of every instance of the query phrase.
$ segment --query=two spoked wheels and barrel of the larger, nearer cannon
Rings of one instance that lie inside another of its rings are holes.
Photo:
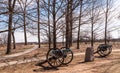
[[[49,49],[46,55],[47,62],[52,67],[67,65],[73,60],[73,52],[70,48],[62,47]]]

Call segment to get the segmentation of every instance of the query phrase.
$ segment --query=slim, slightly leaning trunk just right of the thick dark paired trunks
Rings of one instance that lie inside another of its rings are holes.
[[[82,17],[82,0],[80,1],[80,15],[79,15],[78,37],[77,37],[77,49],[80,49],[79,43],[80,43],[81,17]]]

